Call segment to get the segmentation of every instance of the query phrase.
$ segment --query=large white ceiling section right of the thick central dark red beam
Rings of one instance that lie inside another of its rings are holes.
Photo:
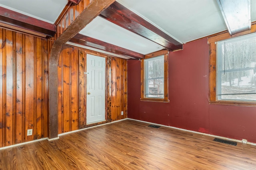
[[[170,36],[186,43],[227,30],[216,0],[117,0],[154,23]],[[256,20],[256,0],[251,0],[251,19]]]

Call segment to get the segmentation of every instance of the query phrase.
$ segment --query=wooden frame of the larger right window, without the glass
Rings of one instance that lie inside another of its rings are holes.
[[[256,106],[256,102],[252,101],[239,101],[239,100],[217,100],[216,96],[216,78],[217,78],[217,70],[216,70],[216,42],[222,41],[225,39],[230,39],[234,37],[238,37],[241,35],[246,35],[249,33],[256,32],[256,24],[251,26],[251,30],[244,31],[241,33],[237,33],[234,35],[230,35],[228,31],[224,31],[222,33],[215,34],[211,37],[208,37],[209,44],[209,103],[210,104],[228,104],[228,105],[244,105],[244,106]]]

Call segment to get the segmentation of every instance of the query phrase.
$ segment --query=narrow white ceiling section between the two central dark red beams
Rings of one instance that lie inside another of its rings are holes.
[[[164,49],[164,47],[99,16],[79,33],[144,55]]]

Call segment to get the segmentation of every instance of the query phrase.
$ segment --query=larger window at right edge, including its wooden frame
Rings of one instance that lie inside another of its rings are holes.
[[[256,33],[250,32],[208,38],[210,103],[256,104]]]

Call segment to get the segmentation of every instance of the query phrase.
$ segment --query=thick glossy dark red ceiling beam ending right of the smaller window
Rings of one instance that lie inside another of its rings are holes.
[[[104,10],[100,16],[129,31],[145,37],[170,51],[182,49],[182,44],[144,20],[134,12],[128,10],[118,2],[114,2]]]

